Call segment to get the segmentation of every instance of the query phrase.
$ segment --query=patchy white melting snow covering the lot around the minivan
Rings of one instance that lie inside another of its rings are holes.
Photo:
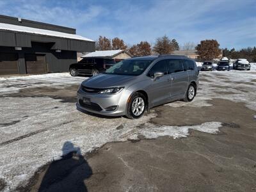
[[[200,88],[193,102],[179,101],[167,105],[211,106],[209,100],[221,98],[243,101],[256,110],[256,83],[252,72],[200,72],[200,78]],[[36,169],[59,159],[66,141],[74,143],[85,154],[110,141],[137,140],[141,134],[145,138],[182,138],[189,135],[189,129],[214,134],[221,127],[221,122],[181,127],[148,123],[155,113],[138,120],[99,118],[77,111],[74,103],[63,103],[49,97],[3,97],[23,88],[79,84],[84,79],[67,73],[0,78],[0,179],[7,183],[5,191],[26,184]]]

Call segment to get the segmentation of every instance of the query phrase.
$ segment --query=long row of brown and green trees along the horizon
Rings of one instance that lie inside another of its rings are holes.
[[[173,51],[180,50],[179,43],[175,38],[169,38],[164,35],[156,38],[153,45],[147,41],[141,41],[138,44],[128,46],[125,44],[124,40],[115,37],[112,40],[106,36],[99,36],[96,41],[96,50],[116,50],[122,49],[129,52],[132,56],[148,56],[152,54],[172,54]],[[217,40],[202,40],[200,44],[195,44],[193,42],[187,42],[182,46],[182,50],[195,50],[198,55],[198,60],[213,60],[214,58],[219,58],[221,53],[223,56],[238,59],[246,58],[248,61],[256,61],[256,47],[248,47],[236,51],[234,48],[229,50],[227,48],[221,50],[220,44]]]

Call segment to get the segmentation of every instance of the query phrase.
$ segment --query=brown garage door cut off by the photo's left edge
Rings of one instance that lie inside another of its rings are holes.
[[[18,54],[0,52],[0,75],[18,74]]]

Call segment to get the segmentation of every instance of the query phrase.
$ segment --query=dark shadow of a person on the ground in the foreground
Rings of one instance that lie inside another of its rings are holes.
[[[92,174],[92,168],[81,155],[79,147],[66,141],[63,156],[53,161],[39,173],[31,191],[87,191],[85,180]]]

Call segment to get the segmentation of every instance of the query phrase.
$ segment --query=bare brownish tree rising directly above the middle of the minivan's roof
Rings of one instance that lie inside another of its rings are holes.
[[[170,38],[164,35],[156,39],[153,50],[158,54],[170,54],[174,51],[174,47]]]

